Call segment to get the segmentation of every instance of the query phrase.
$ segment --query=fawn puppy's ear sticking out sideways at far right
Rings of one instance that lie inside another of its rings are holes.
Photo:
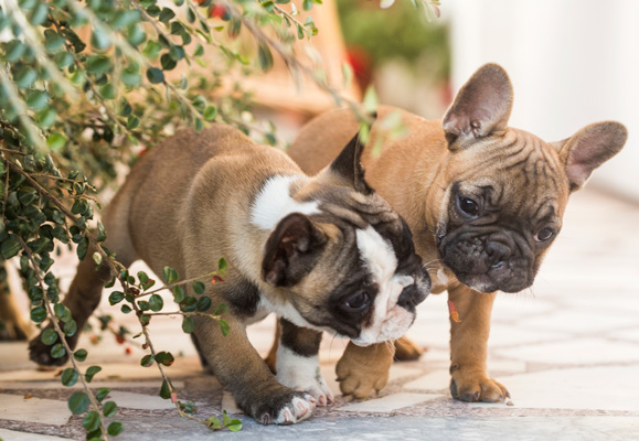
[[[622,123],[604,121],[586,126],[571,138],[552,143],[564,163],[571,192],[583,187],[590,173],[617,154],[627,139],[628,130]]]

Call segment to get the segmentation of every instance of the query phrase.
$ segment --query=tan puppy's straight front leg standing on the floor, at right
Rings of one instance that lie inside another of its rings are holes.
[[[459,313],[450,319],[450,394],[461,401],[503,401],[510,397],[503,385],[488,376],[488,336],[496,292],[475,291],[465,284],[448,289],[448,299]]]

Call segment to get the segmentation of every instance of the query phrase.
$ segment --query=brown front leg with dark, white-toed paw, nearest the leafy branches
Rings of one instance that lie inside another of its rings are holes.
[[[222,335],[217,322],[207,316],[195,318],[195,335],[202,355],[237,406],[263,424],[292,424],[309,418],[317,400],[279,384],[248,341],[244,324],[225,319],[228,335]]]

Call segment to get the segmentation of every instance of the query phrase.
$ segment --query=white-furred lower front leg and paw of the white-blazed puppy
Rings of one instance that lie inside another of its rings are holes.
[[[334,400],[320,373],[318,355],[303,357],[280,344],[277,348],[277,380],[291,389],[309,392],[319,406]]]

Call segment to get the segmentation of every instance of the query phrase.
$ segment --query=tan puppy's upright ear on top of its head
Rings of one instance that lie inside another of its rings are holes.
[[[512,84],[498,64],[484,64],[461,87],[441,120],[448,148],[503,130],[512,110]]]

